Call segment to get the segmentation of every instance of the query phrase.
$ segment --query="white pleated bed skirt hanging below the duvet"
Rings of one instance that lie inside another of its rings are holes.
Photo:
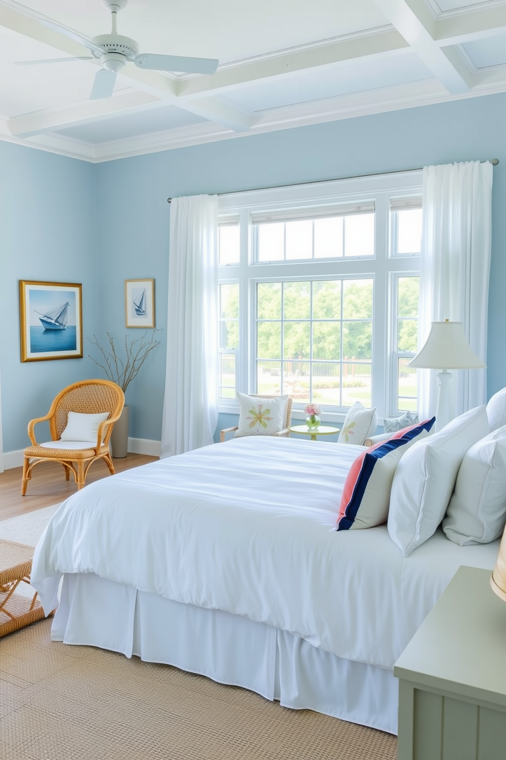
[[[264,623],[99,578],[65,575],[53,641],[133,654],[242,686],[283,707],[397,733],[398,681]]]

